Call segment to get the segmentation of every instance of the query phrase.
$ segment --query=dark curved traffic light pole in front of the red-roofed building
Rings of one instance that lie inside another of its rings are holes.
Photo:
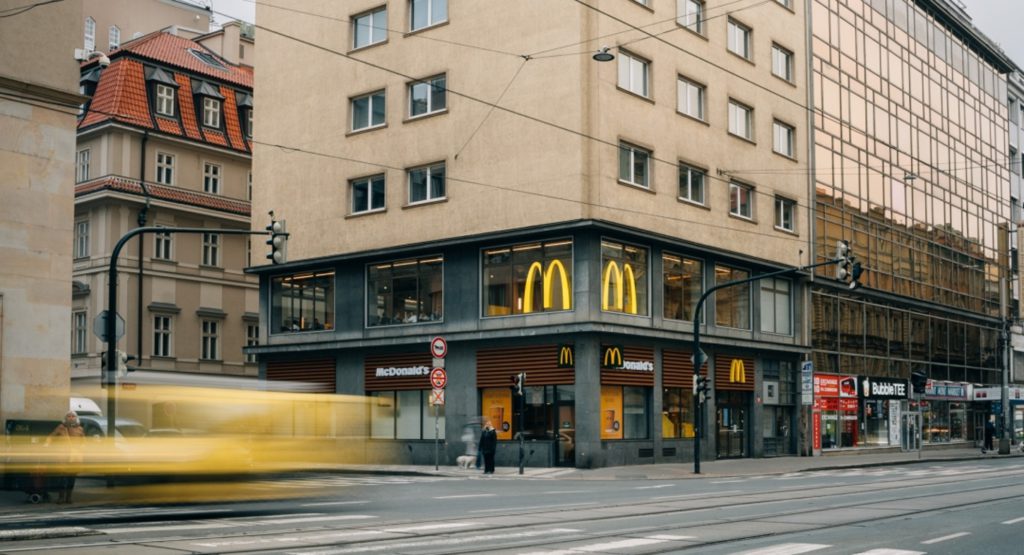
[[[117,427],[117,402],[118,402],[118,340],[117,340],[117,313],[118,313],[118,256],[121,249],[128,244],[135,236],[147,232],[159,233],[220,233],[227,236],[268,236],[270,231],[252,231],[250,229],[218,229],[213,227],[136,227],[125,233],[114,250],[111,252],[111,266],[108,273],[106,284],[106,330],[103,332],[106,340],[106,369],[103,371],[102,383],[106,387],[106,436],[114,440]],[[141,327],[139,328],[141,330]],[[142,353],[139,353],[141,358]]]

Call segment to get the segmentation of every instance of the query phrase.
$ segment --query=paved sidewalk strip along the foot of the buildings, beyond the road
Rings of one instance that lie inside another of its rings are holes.
[[[879,452],[872,450],[851,451],[828,454],[824,457],[776,457],[768,459],[730,459],[722,461],[701,461],[700,474],[693,473],[693,463],[663,463],[652,465],[617,466],[597,469],[580,468],[525,468],[522,477],[532,479],[569,479],[569,480],[615,480],[615,479],[702,479],[721,477],[765,476],[791,474],[813,470],[830,470],[842,468],[865,468],[888,465],[910,465],[920,463],[939,463],[946,461],[977,461],[991,459],[1024,459],[1024,453],[1015,445],[1010,455],[997,455],[989,452],[982,455],[975,447],[964,449],[931,449],[922,453]],[[434,470],[433,465],[343,465],[317,472],[341,472],[345,474],[365,474],[370,476],[443,476],[474,479],[489,479],[476,469],[460,469],[457,466],[441,466]],[[499,467],[495,472],[499,478],[519,477],[517,467]],[[54,505],[51,502],[32,505],[22,492],[0,490],[0,514],[13,512],[53,511],[55,508],[72,509],[76,506],[87,506],[102,502],[104,495],[103,480],[97,478],[80,478],[75,488],[75,505]],[[51,496],[55,499],[55,495]]]

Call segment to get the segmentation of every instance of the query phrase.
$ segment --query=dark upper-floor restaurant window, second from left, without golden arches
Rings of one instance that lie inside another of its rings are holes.
[[[444,259],[413,258],[367,267],[367,326],[438,322],[444,315]]]

